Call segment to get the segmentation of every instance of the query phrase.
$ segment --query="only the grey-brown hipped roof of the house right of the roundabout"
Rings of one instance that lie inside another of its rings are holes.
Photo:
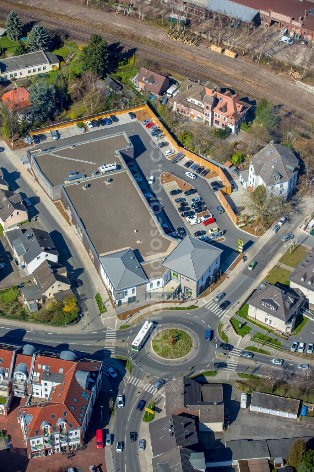
[[[287,322],[304,302],[301,294],[263,282],[248,300],[250,306]],[[273,309],[271,308],[273,307]]]

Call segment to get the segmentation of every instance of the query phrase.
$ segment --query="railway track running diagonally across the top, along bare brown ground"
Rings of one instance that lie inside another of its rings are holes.
[[[11,11],[11,8],[0,8],[0,18],[6,18],[8,13]],[[192,62],[189,62],[184,59],[178,59],[171,54],[166,54],[161,51],[157,51],[155,49],[149,48],[147,46],[142,46],[137,44],[136,42],[124,40],[117,38],[116,36],[110,34],[103,34],[97,30],[93,30],[91,28],[86,28],[84,26],[75,26],[71,23],[66,23],[62,20],[54,20],[50,17],[45,17],[38,14],[30,14],[24,12],[23,10],[15,9],[17,14],[21,17],[21,20],[24,23],[29,23],[30,21],[36,21],[38,23],[44,23],[46,26],[51,28],[54,33],[64,34],[67,37],[79,40],[79,41],[86,41],[90,38],[91,34],[97,33],[100,34],[104,39],[106,39],[108,45],[112,43],[116,43],[117,40],[119,41],[120,45],[124,47],[124,49],[136,49],[136,54],[143,58],[154,59],[158,62],[163,68],[168,67],[169,71],[172,73],[179,74],[181,76],[189,77],[193,80],[202,79],[202,80],[212,80],[221,88],[228,87],[238,92],[242,92],[248,95],[250,98],[266,98],[266,100],[272,102],[274,105],[281,105],[285,111],[295,114],[298,118],[302,120],[313,120],[314,113],[308,113],[302,109],[297,109],[295,107],[291,107],[288,102],[283,100],[278,100],[271,94],[267,94],[264,92],[260,92],[257,88],[252,87],[244,82],[238,81],[231,77],[225,76],[223,74],[219,74],[214,72],[206,67],[201,67]]]

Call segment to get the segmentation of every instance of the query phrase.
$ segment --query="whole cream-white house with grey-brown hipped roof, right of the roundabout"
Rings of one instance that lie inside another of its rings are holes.
[[[248,316],[282,333],[291,333],[304,300],[301,292],[264,281],[248,300]]]

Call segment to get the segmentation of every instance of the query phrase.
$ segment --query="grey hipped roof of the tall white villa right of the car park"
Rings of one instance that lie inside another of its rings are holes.
[[[294,152],[281,144],[269,143],[251,158],[255,174],[265,185],[287,182],[299,169],[299,161]],[[279,180],[276,180],[276,177]]]

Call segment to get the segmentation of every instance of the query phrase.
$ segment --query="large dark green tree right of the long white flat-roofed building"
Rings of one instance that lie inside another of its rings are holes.
[[[84,70],[91,70],[103,78],[108,72],[107,41],[99,34],[92,34],[90,42],[83,48],[81,61]]]

